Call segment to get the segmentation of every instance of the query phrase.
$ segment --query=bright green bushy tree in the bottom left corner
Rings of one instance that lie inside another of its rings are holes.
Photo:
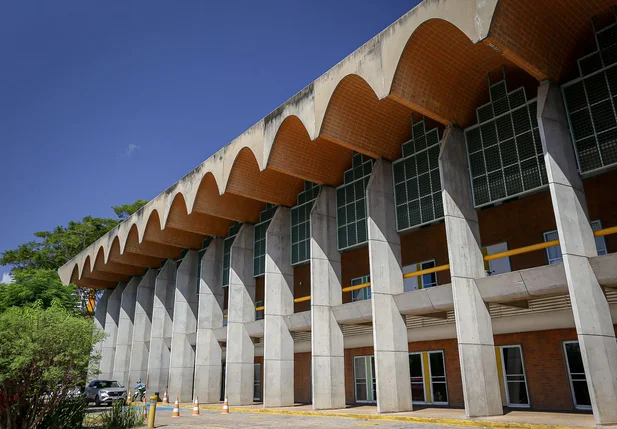
[[[103,338],[92,332],[91,319],[57,301],[0,314],[0,428],[36,428],[85,384],[99,360],[93,344]]]

